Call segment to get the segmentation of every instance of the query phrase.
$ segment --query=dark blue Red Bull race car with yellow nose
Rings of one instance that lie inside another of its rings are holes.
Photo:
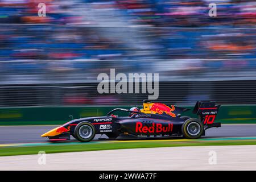
[[[197,101],[193,113],[198,118],[181,116],[189,109],[175,105],[143,101],[143,109],[116,108],[104,117],[73,119],[62,126],[44,133],[50,141],[70,140],[71,135],[80,142],[89,142],[96,134],[105,134],[109,139],[126,138],[170,138],[197,139],[211,127],[221,127],[214,122],[220,105],[212,101]],[[116,111],[128,115],[119,117]]]

